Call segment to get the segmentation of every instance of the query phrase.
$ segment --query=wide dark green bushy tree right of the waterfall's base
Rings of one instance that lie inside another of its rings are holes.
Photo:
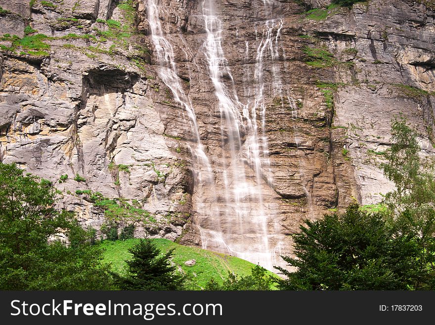
[[[344,214],[305,221],[294,235],[296,272],[276,267],[284,290],[399,290],[412,284],[415,242],[397,233],[381,213],[350,206]]]

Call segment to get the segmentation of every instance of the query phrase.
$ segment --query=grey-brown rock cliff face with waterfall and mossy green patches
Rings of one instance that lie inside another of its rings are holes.
[[[392,189],[377,166],[394,116],[434,153],[430,1],[1,8],[0,160],[56,183],[98,233],[134,223],[271,268],[305,218]]]

